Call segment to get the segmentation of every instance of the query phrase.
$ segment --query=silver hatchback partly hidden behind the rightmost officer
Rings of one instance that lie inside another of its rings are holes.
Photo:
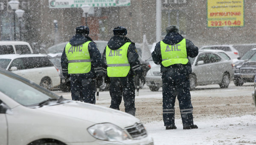
[[[189,60],[192,65],[190,90],[207,84],[219,84],[221,88],[227,88],[230,80],[233,80],[233,61],[223,50],[199,50],[198,56]],[[161,76],[160,65],[151,67],[148,71],[146,84],[151,91],[158,91],[162,87]]]

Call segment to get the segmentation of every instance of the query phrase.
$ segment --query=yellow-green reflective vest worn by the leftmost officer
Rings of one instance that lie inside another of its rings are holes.
[[[88,51],[88,44],[91,41],[87,41],[79,46],[72,46],[68,43],[65,47],[65,52],[68,59],[68,73],[79,74],[89,73],[91,70],[91,60]]]

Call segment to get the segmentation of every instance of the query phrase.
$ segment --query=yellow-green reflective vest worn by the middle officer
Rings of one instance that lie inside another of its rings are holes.
[[[111,50],[106,47],[107,74],[109,77],[125,77],[130,71],[130,64],[127,58],[128,47],[131,42],[126,42],[122,47]]]

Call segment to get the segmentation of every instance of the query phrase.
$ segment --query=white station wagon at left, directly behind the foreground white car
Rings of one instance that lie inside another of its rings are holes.
[[[49,90],[60,84],[58,70],[47,55],[0,55],[0,68],[12,71]]]

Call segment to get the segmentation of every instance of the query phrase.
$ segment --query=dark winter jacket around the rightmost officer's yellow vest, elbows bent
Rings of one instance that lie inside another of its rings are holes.
[[[165,44],[174,45],[179,43],[183,40],[183,37],[177,33],[177,32],[169,32],[165,38],[163,39],[163,42]],[[186,39],[186,52],[187,56],[194,58],[198,55],[198,47],[195,46],[191,41]],[[160,48],[160,42],[158,42],[155,46],[154,51],[152,52],[152,58],[155,64],[161,65],[161,73],[172,69],[173,67],[179,68],[180,72],[189,72],[192,73],[192,67],[190,61],[187,64],[173,64],[169,67],[164,67],[162,65],[162,55],[161,55],[161,48]]]

